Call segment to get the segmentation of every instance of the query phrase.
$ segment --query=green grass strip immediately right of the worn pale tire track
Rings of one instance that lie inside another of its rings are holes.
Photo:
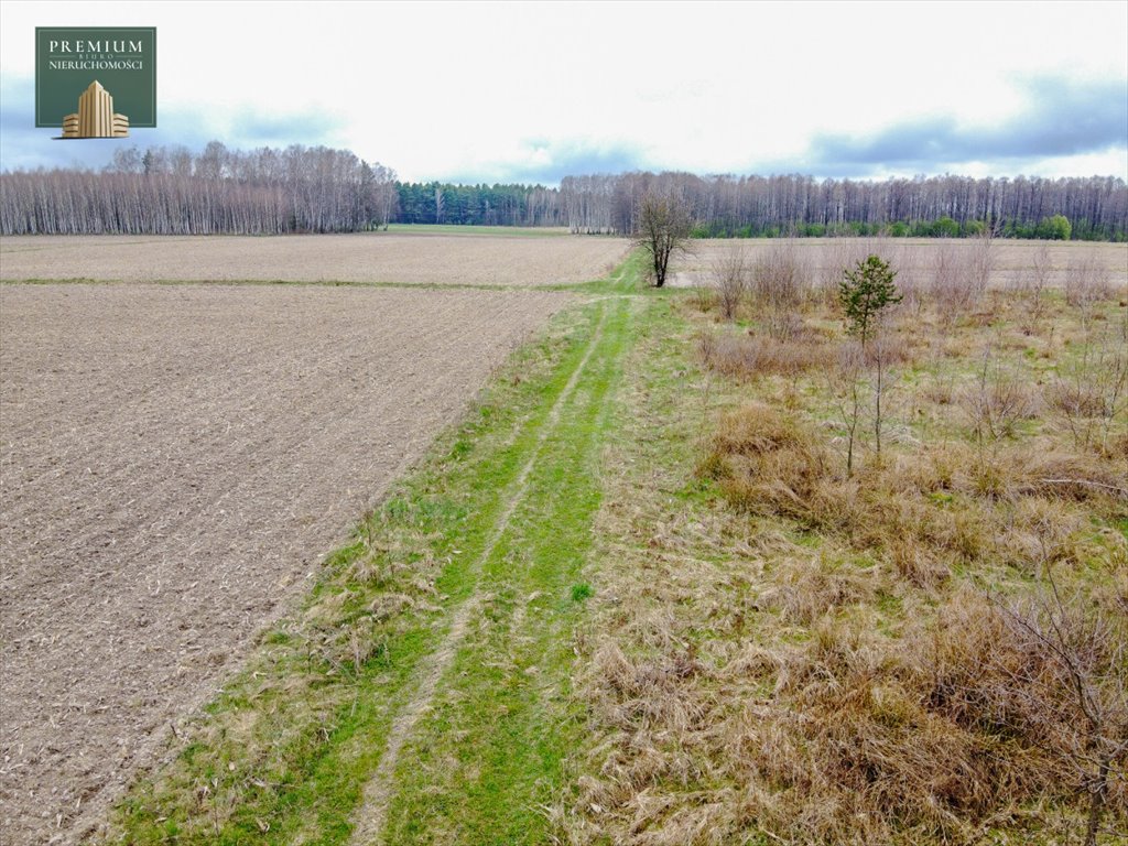
[[[486,600],[397,770],[384,843],[546,841],[541,808],[579,740],[566,705],[572,588],[601,501],[601,451],[632,306],[610,306],[599,346],[485,565]],[[582,591],[581,591],[582,592]]]

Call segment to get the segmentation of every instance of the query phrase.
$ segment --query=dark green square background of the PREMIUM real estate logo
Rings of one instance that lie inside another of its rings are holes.
[[[141,52],[79,53],[51,52],[51,42],[141,42]],[[52,62],[140,61],[135,69],[58,69]],[[63,117],[78,112],[78,97],[94,80],[114,98],[114,112],[130,118],[130,129],[157,125],[157,28],[156,27],[36,27],[35,28],[35,125],[62,126]]]

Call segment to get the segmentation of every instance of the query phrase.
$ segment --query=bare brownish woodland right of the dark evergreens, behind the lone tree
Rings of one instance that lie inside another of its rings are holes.
[[[697,237],[961,237],[987,227],[1012,238],[1126,240],[1128,233],[1128,185],[1117,177],[862,182],[632,173],[569,176],[559,191],[575,232],[637,232],[641,201],[656,193],[687,204]]]

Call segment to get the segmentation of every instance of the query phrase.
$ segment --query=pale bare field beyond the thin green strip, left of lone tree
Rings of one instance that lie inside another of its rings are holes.
[[[356,282],[537,287],[587,282],[624,257],[619,238],[500,238],[458,227],[356,235],[21,236],[0,240],[0,279]],[[509,235],[510,232],[505,232]]]

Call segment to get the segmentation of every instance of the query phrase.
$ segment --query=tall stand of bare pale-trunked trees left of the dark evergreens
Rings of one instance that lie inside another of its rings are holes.
[[[0,175],[5,235],[280,235],[387,226],[395,171],[325,147],[115,151],[102,171]]]

